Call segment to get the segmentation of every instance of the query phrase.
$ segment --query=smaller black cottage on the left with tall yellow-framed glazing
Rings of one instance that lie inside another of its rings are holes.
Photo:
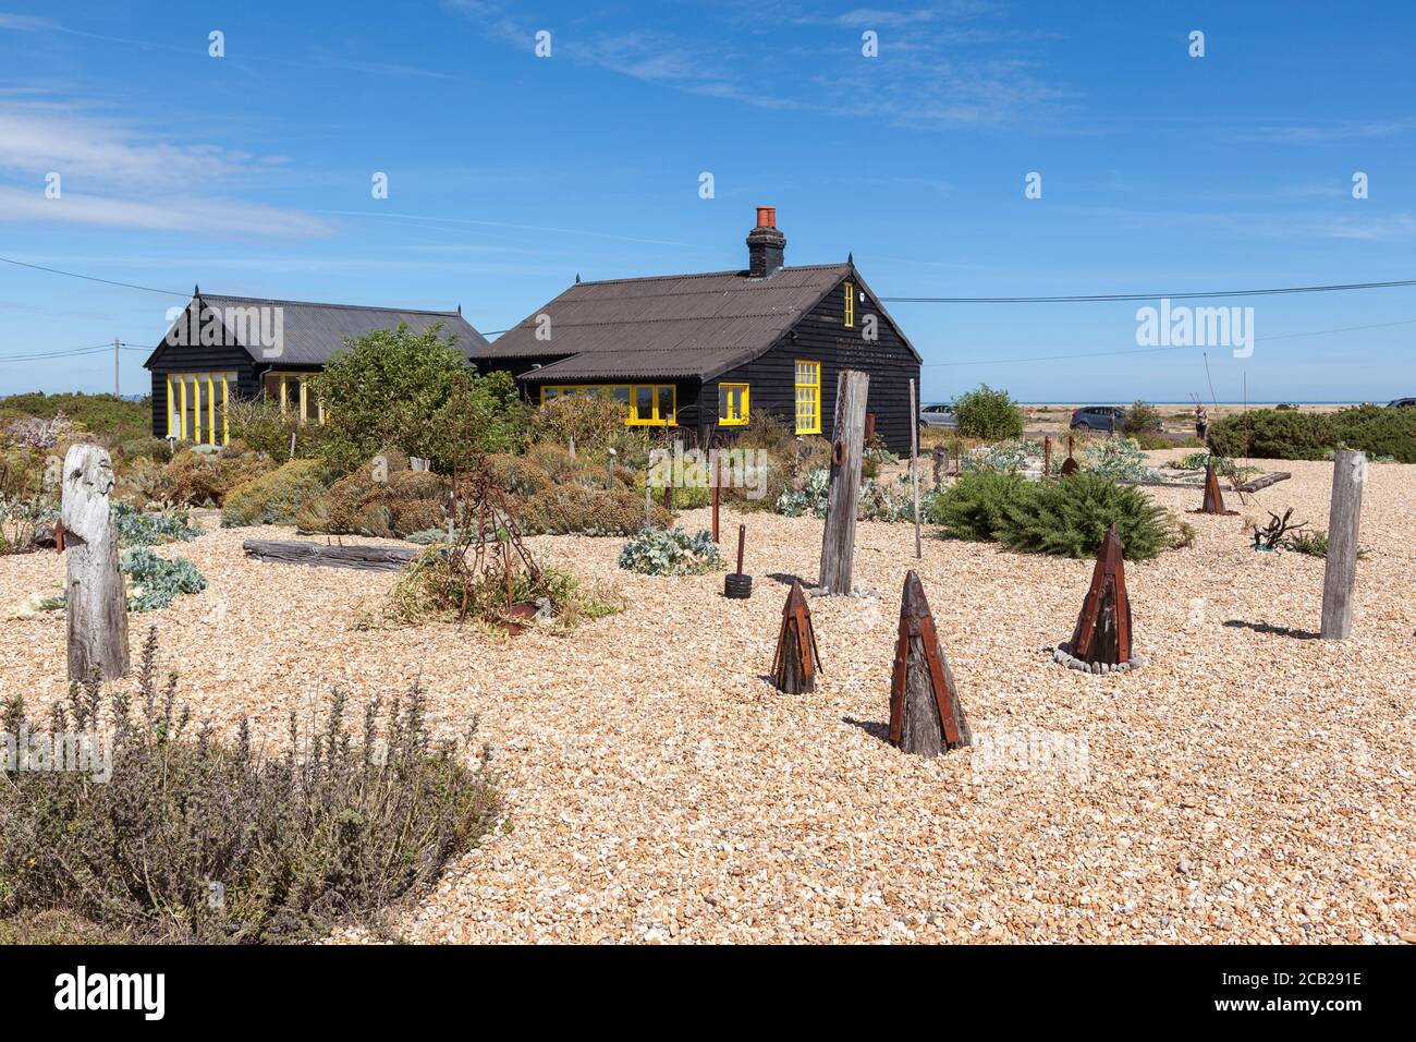
[[[375,329],[412,333],[442,326],[469,359],[487,339],[457,310],[405,310],[347,303],[266,301],[193,292],[163,342],[143,364],[153,374],[153,434],[224,445],[227,403],[265,396],[323,422],[324,405],[306,381],[348,337]]]

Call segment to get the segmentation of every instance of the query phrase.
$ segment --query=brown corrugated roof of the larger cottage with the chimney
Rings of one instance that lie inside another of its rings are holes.
[[[523,319],[481,362],[569,356],[521,379],[712,379],[750,362],[851,274],[850,264],[780,268],[772,278],[745,271],[579,282]],[[549,316],[551,339],[538,340]]]

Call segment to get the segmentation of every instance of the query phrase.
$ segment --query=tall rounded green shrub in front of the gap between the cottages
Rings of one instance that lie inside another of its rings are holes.
[[[347,344],[310,381],[314,394],[330,403],[319,451],[336,474],[347,474],[385,445],[430,459],[443,472],[466,449],[521,447],[527,408],[515,380],[500,371],[472,373],[456,336],[442,336],[440,326],[411,333],[399,325]],[[462,432],[469,434],[466,442]]]

